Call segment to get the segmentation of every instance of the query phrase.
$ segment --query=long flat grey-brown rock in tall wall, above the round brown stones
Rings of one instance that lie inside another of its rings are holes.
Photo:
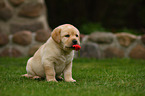
[[[13,23],[10,25],[10,32],[16,33],[23,30],[29,30],[32,32],[36,32],[40,29],[43,29],[43,23],[42,22],[33,22],[33,23]]]

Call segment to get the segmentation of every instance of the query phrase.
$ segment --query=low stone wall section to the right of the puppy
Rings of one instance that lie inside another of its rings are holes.
[[[145,35],[94,32],[83,38],[81,46],[76,57],[145,59]]]

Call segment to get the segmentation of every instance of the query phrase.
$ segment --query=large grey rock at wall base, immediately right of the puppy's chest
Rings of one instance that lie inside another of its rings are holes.
[[[96,43],[84,43],[81,45],[80,57],[97,58],[101,57],[99,46]]]

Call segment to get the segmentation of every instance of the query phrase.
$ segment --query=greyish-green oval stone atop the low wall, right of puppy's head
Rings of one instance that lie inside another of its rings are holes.
[[[110,44],[113,42],[114,35],[112,33],[106,32],[94,32],[89,36],[88,39],[98,44]]]

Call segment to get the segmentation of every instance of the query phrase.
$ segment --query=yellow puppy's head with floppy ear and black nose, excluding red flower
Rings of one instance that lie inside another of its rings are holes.
[[[51,36],[64,50],[73,50],[73,45],[80,45],[79,30],[70,24],[58,26],[53,30]]]

